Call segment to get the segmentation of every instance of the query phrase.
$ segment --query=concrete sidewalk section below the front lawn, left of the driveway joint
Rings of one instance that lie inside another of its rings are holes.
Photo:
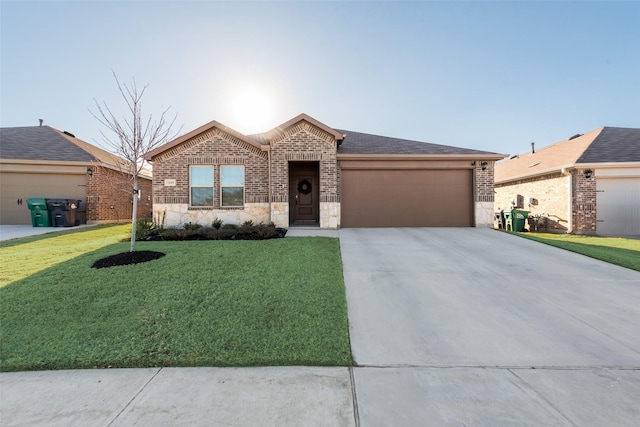
[[[2,426],[355,426],[348,368],[5,373]]]

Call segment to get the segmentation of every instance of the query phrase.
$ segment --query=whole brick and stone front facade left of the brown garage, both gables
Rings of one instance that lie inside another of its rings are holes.
[[[286,227],[289,225],[289,164],[316,161],[322,210],[325,202],[339,202],[336,141],[332,135],[302,121],[271,140],[269,152],[212,128],[153,158],[154,209],[170,211],[166,217],[166,225],[170,226],[185,222],[206,225],[218,217],[224,222],[274,221]],[[213,207],[189,206],[191,165],[214,166]],[[223,208],[220,204],[219,166],[223,165],[245,167],[244,208]],[[166,185],[166,180],[171,180],[171,184],[175,180],[175,186]],[[334,222],[334,228],[337,224]]]

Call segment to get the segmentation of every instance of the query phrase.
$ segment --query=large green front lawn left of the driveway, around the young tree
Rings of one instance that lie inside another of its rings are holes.
[[[55,239],[25,244],[48,268],[0,289],[2,371],[353,362],[338,239],[138,242],[166,256],[104,269],[91,265],[128,243],[58,261]],[[19,248],[0,247],[3,277]]]

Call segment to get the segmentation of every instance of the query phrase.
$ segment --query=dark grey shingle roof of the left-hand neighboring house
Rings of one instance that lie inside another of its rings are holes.
[[[77,162],[96,160],[49,126],[0,128],[0,158]]]

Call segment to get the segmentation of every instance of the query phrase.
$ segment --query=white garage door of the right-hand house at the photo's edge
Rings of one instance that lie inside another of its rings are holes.
[[[598,178],[596,233],[640,235],[640,178]]]

